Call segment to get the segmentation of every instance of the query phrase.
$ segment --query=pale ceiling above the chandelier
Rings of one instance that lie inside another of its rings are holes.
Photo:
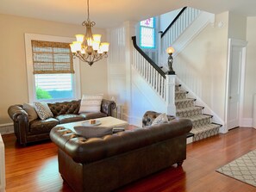
[[[215,14],[232,11],[256,16],[256,0],[91,0],[90,15],[97,28],[109,28],[184,6]],[[0,13],[73,24],[87,18],[86,0],[0,0]]]

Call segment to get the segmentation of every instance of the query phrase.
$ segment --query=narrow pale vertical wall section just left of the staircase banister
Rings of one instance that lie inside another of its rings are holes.
[[[131,37],[137,22],[123,22],[122,26],[108,29],[110,43],[108,59],[109,96],[122,105],[123,119],[129,121],[131,104]]]

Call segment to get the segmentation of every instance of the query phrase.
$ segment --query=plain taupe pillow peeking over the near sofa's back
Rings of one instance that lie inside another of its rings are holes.
[[[74,127],[75,131],[84,136],[84,138],[100,138],[108,134],[112,134],[111,127],[85,127],[85,126],[76,126]]]

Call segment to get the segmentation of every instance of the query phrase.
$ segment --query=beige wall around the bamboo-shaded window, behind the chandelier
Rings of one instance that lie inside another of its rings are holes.
[[[83,21],[81,21],[83,22]],[[73,37],[84,34],[78,25],[47,22],[12,15],[0,15],[0,125],[11,122],[7,114],[10,105],[28,102],[28,83],[24,34],[47,34]],[[103,29],[94,28],[94,33],[103,34]],[[108,96],[107,60],[90,66],[81,63],[81,93],[103,93]]]

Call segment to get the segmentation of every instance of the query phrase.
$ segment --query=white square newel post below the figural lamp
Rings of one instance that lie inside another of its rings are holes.
[[[176,75],[165,75],[166,77],[166,104],[167,115],[176,115],[175,106],[175,77]]]

